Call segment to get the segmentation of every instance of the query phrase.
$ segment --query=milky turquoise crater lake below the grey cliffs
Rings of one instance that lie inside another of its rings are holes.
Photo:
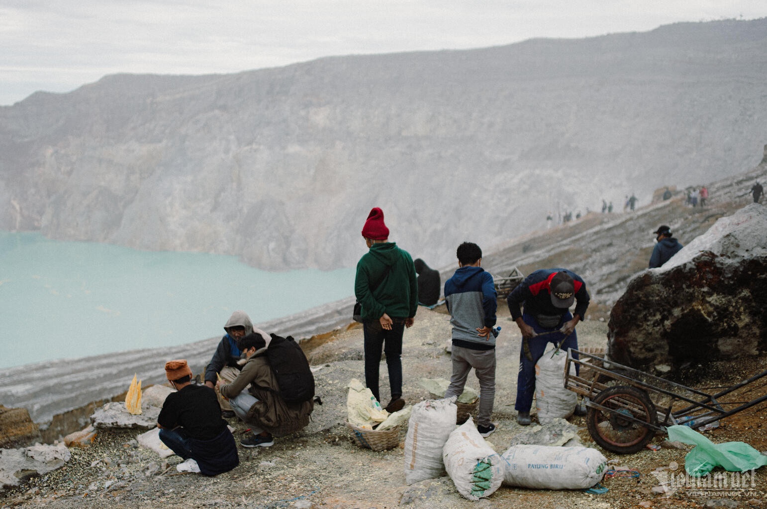
[[[0,231],[0,368],[186,344],[354,293],[354,268],[267,272],[235,256]],[[285,332],[290,331],[275,331]]]

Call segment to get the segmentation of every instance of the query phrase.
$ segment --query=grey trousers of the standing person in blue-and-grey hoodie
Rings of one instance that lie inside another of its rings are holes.
[[[463,386],[466,385],[466,378],[473,367],[479,380],[477,426],[489,426],[492,403],[495,400],[495,348],[472,350],[453,344],[450,359],[453,361],[453,376],[450,377],[445,397],[463,394]]]

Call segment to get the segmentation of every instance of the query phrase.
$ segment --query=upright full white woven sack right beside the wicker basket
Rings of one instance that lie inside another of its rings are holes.
[[[442,448],[456,429],[456,396],[413,405],[405,437],[405,481],[408,485],[445,475]]]

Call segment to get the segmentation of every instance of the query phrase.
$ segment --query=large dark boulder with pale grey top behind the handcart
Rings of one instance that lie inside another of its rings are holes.
[[[767,350],[767,209],[723,217],[615,303],[607,354],[640,370]]]

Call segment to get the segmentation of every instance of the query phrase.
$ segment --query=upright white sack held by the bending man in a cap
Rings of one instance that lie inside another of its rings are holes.
[[[548,424],[553,419],[567,419],[575,411],[578,395],[565,389],[565,361],[568,353],[555,351],[551,345],[535,364],[535,407],[538,423]],[[570,374],[575,374],[575,364],[570,364]]]

